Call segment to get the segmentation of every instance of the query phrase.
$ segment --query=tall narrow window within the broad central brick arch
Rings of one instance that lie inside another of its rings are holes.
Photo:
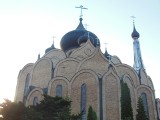
[[[82,120],[86,120],[86,102],[87,102],[87,87],[86,84],[81,86],[81,112]]]

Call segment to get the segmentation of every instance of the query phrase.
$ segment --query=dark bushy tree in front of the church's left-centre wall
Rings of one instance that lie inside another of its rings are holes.
[[[45,120],[69,120],[71,117],[71,101],[62,97],[44,95],[44,99],[35,106]]]

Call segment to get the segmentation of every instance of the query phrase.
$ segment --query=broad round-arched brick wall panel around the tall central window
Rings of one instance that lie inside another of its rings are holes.
[[[88,110],[89,106],[92,106],[99,118],[99,79],[94,71],[79,71],[70,82],[70,90],[72,101],[71,109],[73,114],[81,113],[81,93],[83,93],[81,91],[86,91],[86,110]]]

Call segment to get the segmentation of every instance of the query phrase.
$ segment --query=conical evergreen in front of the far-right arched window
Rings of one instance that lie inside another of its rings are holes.
[[[141,97],[138,98],[136,120],[148,120]]]

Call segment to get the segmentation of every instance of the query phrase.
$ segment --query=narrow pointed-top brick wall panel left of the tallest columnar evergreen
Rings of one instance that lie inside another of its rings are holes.
[[[120,79],[110,69],[102,77],[103,119],[120,120]]]

